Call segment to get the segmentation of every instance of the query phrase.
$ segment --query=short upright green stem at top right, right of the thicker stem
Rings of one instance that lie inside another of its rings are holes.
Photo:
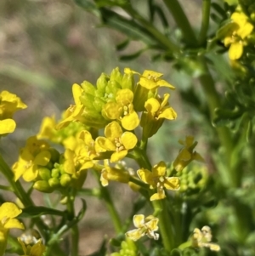
[[[210,9],[211,9],[211,0],[203,0],[202,2],[202,19],[201,19],[201,31],[199,34],[199,44],[206,43],[207,41],[207,31],[210,20]]]

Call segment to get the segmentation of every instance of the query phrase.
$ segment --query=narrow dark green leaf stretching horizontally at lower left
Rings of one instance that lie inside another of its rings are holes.
[[[42,215],[58,215],[65,216],[66,212],[55,210],[53,208],[45,208],[41,206],[30,206],[22,209],[22,213],[19,215],[20,218],[37,218]]]

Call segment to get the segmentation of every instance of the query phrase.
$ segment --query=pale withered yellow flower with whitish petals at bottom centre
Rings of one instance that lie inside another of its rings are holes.
[[[133,225],[137,228],[135,230],[127,231],[125,234],[128,238],[133,241],[139,240],[144,235],[153,238],[154,240],[158,240],[159,235],[154,233],[154,231],[158,230],[158,221],[159,219],[150,215],[144,218],[143,214],[138,214],[133,216]]]

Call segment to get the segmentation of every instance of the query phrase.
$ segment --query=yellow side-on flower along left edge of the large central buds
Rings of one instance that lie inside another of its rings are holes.
[[[65,119],[56,126],[56,129],[61,129],[67,126],[72,121],[79,121],[82,117],[82,111],[84,106],[80,100],[82,96],[83,89],[77,84],[72,86],[72,94],[76,105],[70,105],[70,107],[65,111]]]

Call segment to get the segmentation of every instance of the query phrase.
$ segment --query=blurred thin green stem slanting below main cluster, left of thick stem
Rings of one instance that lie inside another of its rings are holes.
[[[120,216],[117,213],[114,203],[111,199],[111,194],[108,191],[107,187],[104,187],[101,185],[99,172],[94,171],[94,175],[99,182],[100,189],[101,189],[101,196],[105,200],[105,205],[106,205],[106,208],[111,216],[111,220],[113,222],[116,233],[121,233],[122,232],[122,221],[121,221]]]

